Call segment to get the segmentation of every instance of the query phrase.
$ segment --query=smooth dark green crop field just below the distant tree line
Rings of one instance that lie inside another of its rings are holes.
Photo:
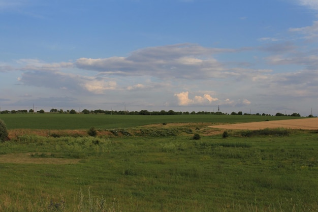
[[[261,115],[0,114],[8,129],[129,128],[158,123],[244,123],[300,118]]]

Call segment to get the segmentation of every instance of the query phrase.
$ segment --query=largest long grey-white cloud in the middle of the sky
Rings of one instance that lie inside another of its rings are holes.
[[[105,75],[204,79],[226,77],[227,73],[222,73],[224,65],[212,55],[235,51],[178,44],[139,49],[128,57],[80,58],[75,65],[79,69],[99,71]]]

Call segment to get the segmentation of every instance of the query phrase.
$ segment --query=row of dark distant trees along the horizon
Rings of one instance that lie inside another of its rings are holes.
[[[3,110],[0,111],[0,113],[3,114],[8,114],[8,113],[35,113],[35,111],[33,109],[29,109],[29,110]],[[45,111],[43,109],[36,111],[36,113],[45,113]],[[266,114],[266,113],[255,113],[255,114],[251,114],[251,113],[243,113],[242,111],[239,112],[232,112],[232,113],[223,113],[223,112],[208,112],[208,111],[199,111],[199,112],[181,112],[181,111],[173,111],[173,110],[169,110],[169,111],[165,111],[165,110],[161,110],[161,111],[148,111],[148,110],[140,110],[140,111],[124,111],[124,110],[101,110],[101,109],[97,109],[97,110],[88,110],[88,109],[84,109],[82,111],[76,111],[74,109],[71,110],[63,110],[63,109],[55,109],[52,108],[49,113],[70,113],[70,114],[76,114],[76,113],[84,113],[84,114],[114,114],[114,115],[190,115],[190,114],[204,114],[204,115],[263,115],[263,116],[271,116],[271,114]],[[275,116],[300,116],[299,113],[293,113],[293,114],[282,114],[282,113],[276,113]],[[312,115],[309,115],[309,117],[311,117]]]

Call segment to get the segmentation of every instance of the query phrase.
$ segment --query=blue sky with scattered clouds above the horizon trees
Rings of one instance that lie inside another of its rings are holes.
[[[318,115],[316,0],[0,0],[0,109]]]

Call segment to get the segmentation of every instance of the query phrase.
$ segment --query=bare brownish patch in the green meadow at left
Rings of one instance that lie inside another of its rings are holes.
[[[81,159],[34,158],[30,153],[13,153],[0,155],[0,163],[34,163],[34,164],[74,164]]]

